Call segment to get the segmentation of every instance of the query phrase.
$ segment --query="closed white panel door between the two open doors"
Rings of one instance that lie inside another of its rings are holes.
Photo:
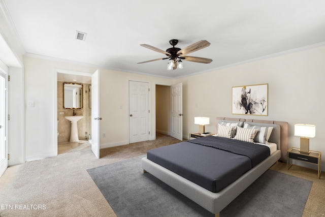
[[[129,143],[149,140],[149,83],[129,81]]]

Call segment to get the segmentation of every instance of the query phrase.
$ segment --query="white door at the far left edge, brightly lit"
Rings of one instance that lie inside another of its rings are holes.
[[[6,78],[0,72],[0,177],[8,167],[6,143]]]

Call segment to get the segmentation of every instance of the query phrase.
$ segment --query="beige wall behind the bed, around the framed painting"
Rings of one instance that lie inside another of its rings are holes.
[[[310,149],[325,153],[324,59],[321,46],[177,79],[183,83],[183,136],[198,130],[194,116],[210,117],[208,132],[214,132],[217,116],[280,120],[289,123],[289,147],[299,147],[294,125],[310,123],[316,125]],[[232,87],[264,83],[269,84],[269,115],[233,115]]]

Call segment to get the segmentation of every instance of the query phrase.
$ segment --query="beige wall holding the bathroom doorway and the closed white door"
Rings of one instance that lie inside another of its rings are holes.
[[[56,72],[60,70],[94,73],[96,68],[24,56],[26,161],[53,157],[57,152],[57,91]],[[171,85],[172,79],[100,69],[100,146],[128,144],[128,82],[142,81],[150,85],[150,132],[156,130],[155,85]],[[55,96],[55,98],[54,98]],[[55,109],[54,109],[55,108]],[[55,121],[54,121],[55,120]],[[103,137],[103,133],[106,137]],[[155,134],[150,134],[150,140]]]

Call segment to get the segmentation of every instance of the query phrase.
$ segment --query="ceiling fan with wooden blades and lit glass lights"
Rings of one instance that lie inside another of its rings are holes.
[[[198,50],[201,50],[203,48],[209,47],[210,43],[208,41],[206,41],[206,40],[198,41],[198,42],[196,42],[194,44],[191,44],[191,45],[189,45],[189,46],[187,46],[187,47],[185,47],[183,49],[175,47],[175,45],[178,44],[177,39],[172,39],[172,40],[169,41],[169,43],[173,47],[168,48],[166,51],[161,50],[161,49],[156,48],[156,47],[153,47],[151,45],[141,44],[140,46],[142,46],[142,47],[148,48],[150,50],[157,51],[159,53],[166,54],[168,57],[158,58],[158,59],[151,59],[151,60],[143,61],[143,62],[138,63],[138,64],[149,63],[149,62],[156,61],[156,60],[161,60],[161,59],[169,59],[168,65],[167,65],[167,70],[174,70],[174,69],[182,69],[183,68],[182,60],[192,61],[192,62],[202,63],[202,64],[209,64],[209,63],[212,62],[212,59],[208,59],[208,58],[195,57],[195,56],[183,56],[185,54],[189,54],[189,53],[192,53],[194,51],[198,51]]]

